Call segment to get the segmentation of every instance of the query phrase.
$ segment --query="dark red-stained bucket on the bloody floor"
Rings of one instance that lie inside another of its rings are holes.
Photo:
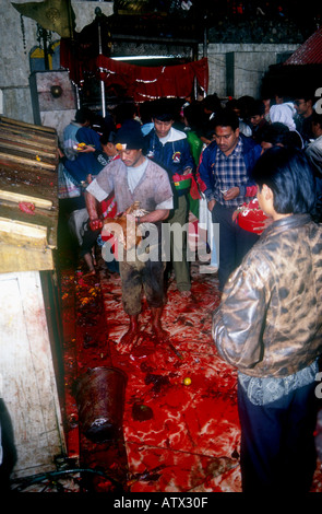
[[[75,387],[82,432],[95,443],[120,436],[127,375],[116,367],[93,367]]]

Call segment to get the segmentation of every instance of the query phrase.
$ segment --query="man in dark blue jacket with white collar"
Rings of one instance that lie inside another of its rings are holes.
[[[164,101],[155,104],[153,114],[154,128],[145,136],[145,154],[169,175],[174,190],[174,209],[167,223],[170,226],[170,258],[177,281],[177,288],[183,297],[190,296],[191,280],[190,267],[187,259],[187,233],[175,234],[174,224],[180,227],[188,226],[190,185],[181,186],[184,175],[190,175],[194,168],[194,161],[184,132],[172,127],[175,115],[171,106]],[[184,184],[184,183],[183,183]]]

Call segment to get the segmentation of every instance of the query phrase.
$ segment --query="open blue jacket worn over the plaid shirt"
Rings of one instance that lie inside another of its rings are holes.
[[[255,165],[255,162],[261,155],[262,148],[260,144],[257,144],[253,139],[245,137],[242,133],[239,135],[239,138],[242,140],[243,144],[243,161],[247,168],[247,173],[249,176],[249,182],[242,186],[239,186],[240,196],[246,195],[246,188],[248,186],[253,186],[254,182],[251,178],[251,172]],[[205,148],[202,155],[202,161],[199,166],[199,175],[203,183],[206,186],[204,195],[206,200],[211,200],[214,198],[213,191],[215,188],[215,175],[213,173],[212,164],[216,160],[217,155],[217,143],[214,141],[208,147]]]

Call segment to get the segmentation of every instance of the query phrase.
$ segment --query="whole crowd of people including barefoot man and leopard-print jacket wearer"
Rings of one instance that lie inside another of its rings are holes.
[[[142,289],[155,342],[169,337],[162,326],[167,273],[191,301],[182,229],[205,221],[204,268],[218,270],[222,292],[213,341],[238,370],[243,490],[284,490],[287,469],[287,487],[308,491],[322,352],[322,115],[314,98],[159,98],[121,105],[95,127],[80,109],[62,150],[62,179],[81,191],[67,199],[81,256],[95,273],[93,248],[103,241],[114,256],[107,266],[118,266],[129,315],[120,352],[131,351],[140,331]],[[248,230],[237,213],[254,200],[262,223]],[[139,245],[132,237],[121,246],[117,227],[126,225],[140,233]]]

